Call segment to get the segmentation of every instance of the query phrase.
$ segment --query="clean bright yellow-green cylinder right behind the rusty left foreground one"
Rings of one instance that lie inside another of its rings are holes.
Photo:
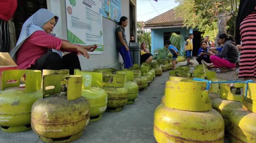
[[[108,105],[108,93],[102,89],[102,73],[80,70],[74,73],[83,76],[82,97],[90,103],[90,122],[99,121]]]

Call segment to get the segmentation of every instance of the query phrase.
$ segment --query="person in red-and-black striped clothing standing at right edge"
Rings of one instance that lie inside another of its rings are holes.
[[[256,0],[240,1],[236,44],[241,44],[239,78],[256,82]]]

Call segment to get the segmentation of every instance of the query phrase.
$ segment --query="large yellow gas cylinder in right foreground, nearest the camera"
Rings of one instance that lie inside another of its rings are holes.
[[[166,102],[154,112],[157,143],[224,143],[224,121],[204,82],[167,81]]]

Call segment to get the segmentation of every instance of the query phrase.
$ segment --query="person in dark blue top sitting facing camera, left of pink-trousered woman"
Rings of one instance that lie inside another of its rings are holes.
[[[210,54],[209,54],[208,48],[207,48],[207,42],[203,41],[201,43],[201,47],[202,48],[199,48],[199,50],[198,50],[198,57],[196,58],[197,62],[199,64],[202,64],[201,61],[204,60],[207,63],[212,63],[210,60]]]

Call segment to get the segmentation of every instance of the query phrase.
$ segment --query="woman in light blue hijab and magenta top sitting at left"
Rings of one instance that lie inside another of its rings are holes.
[[[44,8],[26,20],[17,45],[10,52],[19,69],[69,69],[70,74],[73,74],[74,69],[81,70],[77,53],[89,59],[87,50],[93,51],[93,46],[75,45],[55,37],[51,32],[57,22],[58,17]],[[61,51],[71,53],[62,57]]]

